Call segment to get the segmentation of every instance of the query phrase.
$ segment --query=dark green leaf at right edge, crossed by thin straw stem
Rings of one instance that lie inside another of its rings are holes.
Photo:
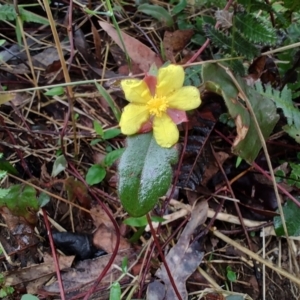
[[[297,199],[299,201],[299,199]],[[285,224],[289,236],[300,235],[300,208],[293,201],[288,200],[283,206],[283,214],[285,218]],[[282,226],[282,220],[280,216],[276,216],[273,219],[274,229],[277,236],[284,236],[284,229]]]

